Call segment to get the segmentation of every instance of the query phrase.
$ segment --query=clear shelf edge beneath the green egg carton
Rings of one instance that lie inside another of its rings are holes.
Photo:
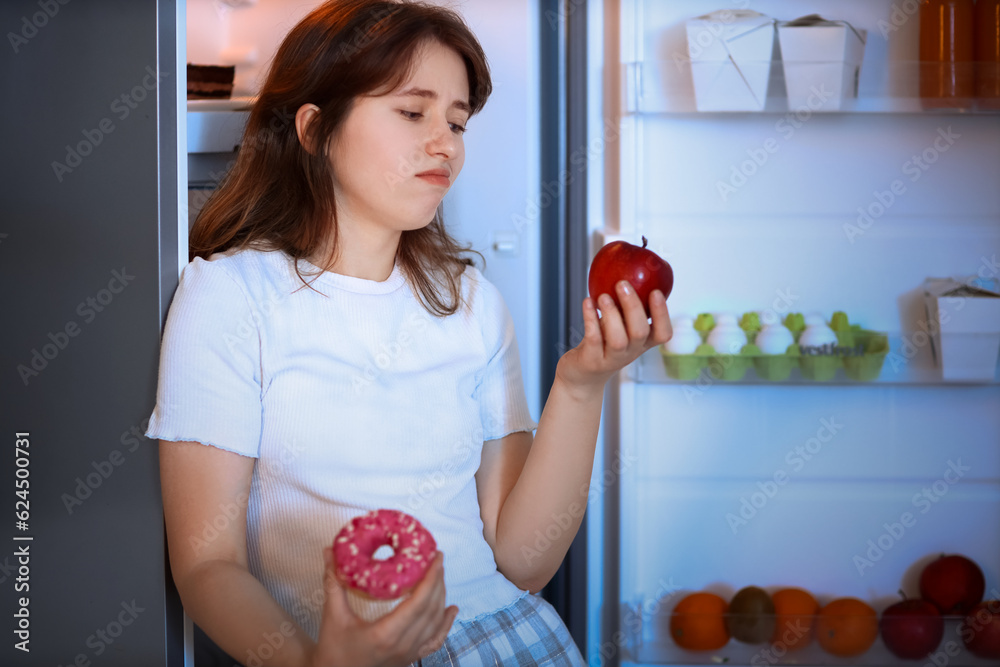
[[[953,381],[945,380],[942,377],[941,369],[937,366],[931,344],[925,343],[917,345],[926,340],[920,335],[890,334],[889,353],[882,364],[882,370],[878,377],[871,381],[853,380],[848,377],[843,366],[837,369],[836,375],[826,381],[811,380],[804,377],[798,368],[793,368],[791,374],[784,380],[766,380],[759,377],[753,369],[746,371],[745,375],[738,380],[716,379],[712,376],[708,368],[703,368],[701,373],[692,380],[676,380],[667,375],[666,367],[659,348],[647,351],[625,371],[626,378],[632,382],[640,384],[677,384],[690,385],[698,390],[712,385],[804,385],[804,386],[830,386],[830,385],[850,385],[850,386],[870,386],[870,385],[940,385],[940,386],[983,386],[997,385],[1000,383],[1000,366],[993,373],[990,380],[980,381]]]

